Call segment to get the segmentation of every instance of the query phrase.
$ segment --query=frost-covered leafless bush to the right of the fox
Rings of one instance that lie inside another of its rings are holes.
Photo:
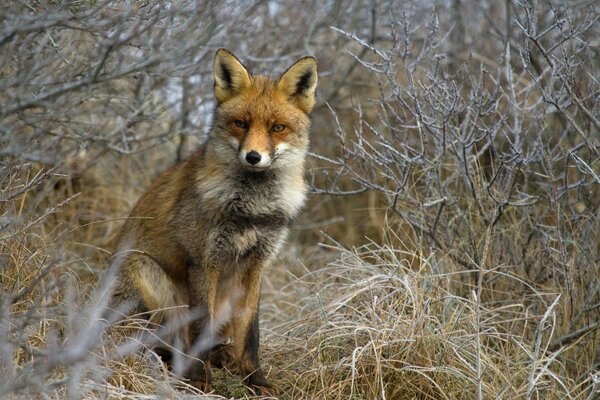
[[[485,43],[463,57],[439,9],[423,23],[398,7],[389,43],[336,29],[367,50],[351,57],[379,97],[355,105],[351,127],[332,108],[341,150],[316,155],[331,167],[315,190],[383,194],[436,272],[469,272],[455,286],[462,296],[521,300],[548,324],[559,295],[553,340],[535,354],[553,352],[591,387],[600,362],[597,4],[507,2],[505,25],[483,6],[462,12],[489,22],[477,32]]]

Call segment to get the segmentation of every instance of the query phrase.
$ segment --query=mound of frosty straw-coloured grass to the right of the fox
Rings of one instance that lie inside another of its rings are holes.
[[[289,398],[572,395],[558,354],[540,350],[549,344],[544,331],[560,296],[536,293],[549,302],[542,314],[527,313],[517,301],[482,304],[475,290],[468,298],[456,296],[459,273],[439,272],[435,257],[375,243],[327,249],[334,260],[265,295],[274,304],[263,317],[274,327],[263,351],[285,377],[280,382]],[[416,268],[409,262],[414,259]],[[493,275],[495,269],[481,272]],[[535,346],[517,326],[540,335]]]

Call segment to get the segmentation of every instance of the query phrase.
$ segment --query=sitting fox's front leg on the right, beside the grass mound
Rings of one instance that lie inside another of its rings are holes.
[[[275,394],[265,378],[258,360],[258,306],[262,267],[251,268],[239,285],[239,298],[233,310],[233,346],[240,375],[259,393]]]

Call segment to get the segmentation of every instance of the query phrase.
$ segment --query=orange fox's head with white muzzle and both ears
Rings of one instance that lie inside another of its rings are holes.
[[[217,107],[211,140],[222,160],[233,153],[248,171],[293,167],[308,149],[308,114],[315,104],[317,60],[304,57],[278,79],[251,75],[228,50],[214,62]]]

